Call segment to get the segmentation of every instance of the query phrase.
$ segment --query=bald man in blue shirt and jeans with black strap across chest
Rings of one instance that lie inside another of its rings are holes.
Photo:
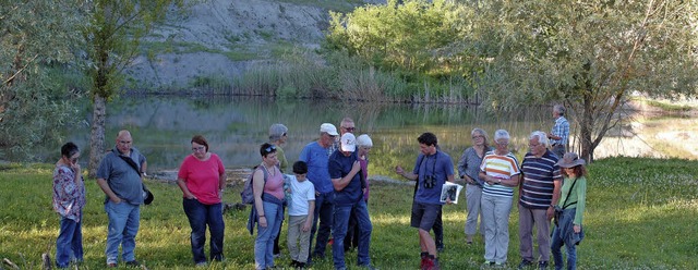
[[[120,131],[116,147],[104,157],[97,169],[97,184],[106,195],[105,211],[109,217],[107,234],[107,267],[117,267],[119,245],[127,266],[139,267],[135,260],[135,236],[139,233],[143,179],[146,160],[131,147],[129,131]]]

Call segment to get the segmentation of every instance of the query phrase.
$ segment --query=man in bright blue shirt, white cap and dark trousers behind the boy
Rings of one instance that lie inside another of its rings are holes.
[[[333,223],[335,207],[333,197],[335,188],[327,170],[329,159],[327,149],[335,142],[337,135],[339,134],[335,125],[329,123],[322,124],[320,126],[320,138],[303,147],[298,158],[298,160],[308,163],[308,180],[315,186],[315,213],[313,214],[313,228],[310,233],[310,246],[313,246],[313,236],[315,232],[317,232],[313,256],[320,258],[325,257],[325,249]],[[320,231],[317,230],[318,220]],[[311,263],[311,260],[312,256],[308,256],[308,263]]]

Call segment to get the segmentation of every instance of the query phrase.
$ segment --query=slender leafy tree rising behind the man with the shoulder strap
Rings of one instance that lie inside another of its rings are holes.
[[[92,3],[91,25],[85,37],[92,62],[88,70],[94,101],[89,174],[94,176],[105,152],[107,102],[123,84],[123,69],[139,54],[141,39],[166,19],[169,8],[181,8],[183,0],[95,0]]]

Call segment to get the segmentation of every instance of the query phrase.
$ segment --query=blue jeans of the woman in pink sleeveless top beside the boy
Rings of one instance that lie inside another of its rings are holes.
[[[254,267],[266,269],[274,267],[274,238],[281,226],[284,211],[281,205],[263,201],[266,226],[257,223],[257,238],[254,241]],[[254,206],[252,206],[254,207]]]

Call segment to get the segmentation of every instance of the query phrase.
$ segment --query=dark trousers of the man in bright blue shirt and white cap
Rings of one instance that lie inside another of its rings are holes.
[[[329,240],[329,233],[333,224],[333,216],[335,209],[335,193],[323,193],[315,196],[315,213],[313,214],[313,228],[310,230],[310,246],[311,250],[313,244],[313,237],[317,232],[317,240],[315,240],[315,249],[313,255],[324,257],[325,249],[327,248],[327,241]],[[320,220],[320,230],[317,230],[317,220]],[[341,242],[344,238],[335,238]],[[335,242],[337,242],[335,241]],[[312,256],[308,256],[308,261],[311,261]]]

